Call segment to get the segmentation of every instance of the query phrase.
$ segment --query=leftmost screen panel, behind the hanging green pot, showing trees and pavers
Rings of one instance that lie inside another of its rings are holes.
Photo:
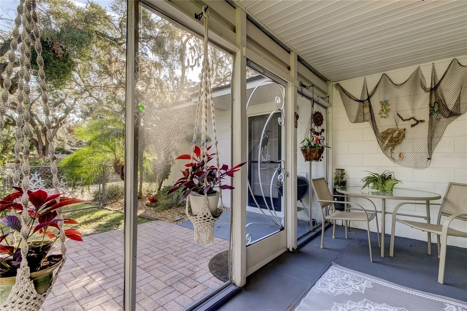
[[[0,1],[2,15],[11,16],[2,18],[4,43],[12,37],[13,19],[20,3],[22,6],[24,1]],[[83,1],[37,1],[51,126],[45,125],[41,102],[43,93],[39,87],[41,78],[33,41],[30,105],[24,108],[31,115],[28,176],[19,163],[14,163],[14,146],[19,143],[15,137],[16,121],[21,120],[17,119],[16,113],[17,96],[21,92],[17,87],[19,47],[15,52],[16,61],[8,64],[12,65],[13,84],[5,112],[6,125],[1,130],[0,200],[14,192],[12,186],[21,186],[21,180],[18,184],[14,178],[15,171],[21,179],[28,178],[30,191],[45,191],[53,195],[57,178],[61,197],[85,200],[63,206],[63,218],[76,221],[68,220],[63,225],[64,229],[74,229],[79,234],[67,234],[64,269],[58,274],[57,282],[41,310],[122,310],[125,11],[126,2],[114,6],[110,1],[89,4]],[[9,53],[6,52],[4,49],[1,51],[2,79],[6,76],[3,75],[4,66],[9,62]],[[48,131],[54,132],[53,147]],[[54,150],[52,156],[56,157],[57,169],[49,161],[51,150]],[[21,163],[23,161],[21,156]],[[44,215],[42,211],[45,211],[43,207],[40,213]],[[59,217],[55,215],[53,218],[57,220]],[[0,216],[16,217],[11,209],[2,210]],[[32,219],[33,225],[38,222],[37,217]],[[47,226],[44,229],[31,235],[29,242],[43,241],[45,247],[48,241],[56,240],[55,236],[59,235],[57,228]],[[10,231],[5,222],[0,224],[1,234]],[[12,231],[5,240],[1,239],[2,246],[7,242],[13,245],[15,233]],[[20,236],[16,235],[16,242],[19,241]],[[45,259],[49,255],[61,253],[60,244],[58,239],[44,254],[42,263],[48,262]],[[2,259],[5,256],[4,253],[0,255]],[[33,257],[34,254],[29,253],[28,262]],[[14,269],[13,265],[8,267],[3,263],[2,260],[2,272]],[[12,275],[15,274],[16,271]],[[0,291],[4,290],[4,282],[5,278],[1,278]],[[4,292],[1,294],[3,296]],[[26,305],[23,307],[28,310]]]

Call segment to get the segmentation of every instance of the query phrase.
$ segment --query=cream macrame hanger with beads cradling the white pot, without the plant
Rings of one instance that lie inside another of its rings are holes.
[[[220,175],[220,165],[219,165],[219,150],[217,148],[217,134],[216,134],[216,118],[214,115],[214,101],[212,100],[212,87],[211,87],[211,68],[209,65],[209,54],[208,54],[208,20],[209,20],[209,11],[207,7],[203,7],[203,10],[200,14],[197,14],[197,18],[200,20],[201,16],[204,13],[204,41],[203,41],[203,62],[201,69],[201,81],[199,83],[198,91],[198,104],[196,106],[196,119],[195,126],[193,130],[193,141],[191,145],[191,160],[190,163],[194,163],[194,152],[196,145],[196,137],[198,135],[198,122],[199,114],[201,113],[201,158],[204,161],[204,169],[208,170],[208,146],[207,146],[207,115],[208,109],[211,111],[212,119],[212,132],[214,138],[214,149],[216,155],[216,168],[217,176]],[[192,167],[190,166],[189,174],[191,175]],[[189,176],[190,176],[189,175]],[[207,179],[204,180],[207,182]],[[220,181],[219,181],[220,183]],[[194,233],[195,233],[195,242],[198,244],[209,244],[214,243],[214,223],[219,219],[220,215],[224,211],[224,203],[222,202],[222,189],[219,188],[219,198],[220,205],[215,214],[212,214],[208,207],[208,197],[207,193],[204,195],[204,203],[201,209],[201,212],[198,215],[193,215],[191,213],[191,208],[188,204],[190,196],[186,199],[185,213],[188,216],[188,219],[193,223]]]

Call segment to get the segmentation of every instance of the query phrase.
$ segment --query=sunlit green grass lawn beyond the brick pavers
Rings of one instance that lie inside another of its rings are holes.
[[[83,236],[123,228],[123,213],[105,208],[90,208],[75,212],[65,212],[63,217],[78,221],[78,225],[66,225],[65,228],[73,227],[81,232]],[[138,217],[138,224],[148,221],[151,220]]]

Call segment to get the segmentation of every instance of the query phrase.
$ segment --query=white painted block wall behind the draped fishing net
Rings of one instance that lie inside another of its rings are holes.
[[[461,64],[467,64],[467,55],[456,58]],[[446,71],[451,61],[452,58],[434,62],[439,78]],[[404,67],[384,73],[395,83],[401,83],[409,78],[417,66]],[[432,63],[420,64],[419,66],[428,86],[430,86]],[[382,73],[366,76],[368,91],[373,89],[381,78]],[[339,81],[339,83],[348,92],[360,98],[363,78],[343,80]],[[384,170],[394,171],[396,178],[403,182],[403,184],[397,184],[396,187],[431,191],[439,193],[441,196],[444,196],[449,182],[467,183],[467,113],[464,113],[448,125],[443,138],[434,150],[430,167],[416,170],[398,166],[390,161],[382,153],[381,148],[379,148],[370,124],[368,122],[350,123],[340,99],[340,94],[335,88],[333,89],[333,97],[333,169],[342,168],[346,170],[349,186],[361,185],[360,179],[367,174],[363,172],[364,170],[377,173],[382,173]],[[365,204],[365,200],[362,199],[352,200],[355,200],[356,203]],[[438,200],[435,203],[441,203],[441,201]],[[375,199],[374,202],[376,206],[381,206],[381,200]],[[386,210],[391,212],[398,203],[400,201],[387,200]],[[404,205],[399,211],[407,214],[426,214],[425,205]],[[434,205],[431,207],[432,223],[436,221],[438,211],[439,206]],[[363,228],[362,224],[358,222],[352,222],[351,226]],[[456,229],[467,231],[466,222],[454,220],[452,226]],[[372,221],[371,229],[376,231],[375,221]],[[391,215],[387,215],[386,233],[390,233],[390,230]],[[427,240],[425,232],[412,229],[400,223],[396,223],[396,235],[417,240]],[[432,242],[436,243],[436,236],[432,236]],[[448,237],[447,242],[449,245],[467,247],[467,239],[465,238]],[[436,253],[436,250],[434,252]]]

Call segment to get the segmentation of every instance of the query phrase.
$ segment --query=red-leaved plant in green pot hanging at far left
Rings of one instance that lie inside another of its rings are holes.
[[[17,201],[23,191],[20,187],[13,188],[16,192],[0,201],[0,212],[14,209],[21,215],[23,205]],[[63,254],[49,254],[60,238],[58,223],[63,221],[64,224],[77,224],[70,218],[57,219],[57,209],[86,201],[62,197],[61,194],[49,195],[42,190],[28,191],[28,197],[28,267],[35,290],[38,294],[43,294],[50,287],[53,271],[63,261]],[[0,303],[7,299],[22,259],[21,238],[17,238],[19,243],[12,244],[8,242],[8,237],[20,231],[21,221],[17,216],[0,217]],[[81,233],[76,229],[66,229],[64,233],[71,240],[82,241]]]

